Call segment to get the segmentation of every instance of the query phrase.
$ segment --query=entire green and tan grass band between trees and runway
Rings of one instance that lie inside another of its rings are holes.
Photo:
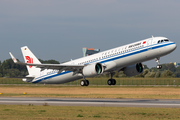
[[[29,83],[22,85],[24,82],[21,79],[1,78],[0,93],[3,94],[0,96],[180,99],[180,78],[117,78],[116,86],[108,86],[107,79],[90,78],[90,86],[81,87],[79,81],[60,85]],[[17,85],[13,85],[15,83]],[[165,86],[157,87],[157,85]]]

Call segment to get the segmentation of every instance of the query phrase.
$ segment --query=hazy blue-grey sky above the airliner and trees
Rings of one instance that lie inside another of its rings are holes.
[[[179,0],[0,0],[0,60],[21,61],[28,46],[42,60],[69,61],[152,35],[176,42],[160,63],[180,62]],[[144,64],[155,67],[151,60]]]

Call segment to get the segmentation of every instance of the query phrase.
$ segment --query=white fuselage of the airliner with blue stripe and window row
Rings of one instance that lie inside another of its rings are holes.
[[[121,70],[127,66],[145,62],[154,58],[160,58],[176,49],[176,44],[171,41],[161,42],[165,37],[154,37],[141,40],[128,45],[106,50],[94,55],[72,60],[64,65],[88,65],[101,63],[106,66],[105,72]],[[82,74],[73,74],[71,71],[43,70],[35,77],[32,83],[60,84],[83,78]]]

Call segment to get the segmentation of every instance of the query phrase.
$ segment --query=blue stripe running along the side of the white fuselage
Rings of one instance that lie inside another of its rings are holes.
[[[129,52],[120,53],[120,54],[117,54],[117,55],[114,55],[114,56],[111,56],[111,57],[108,57],[108,58],[101,59],[101,60],[99,60],[100,61],[99,63],[106,63],[106,62],[114,61],[114,60],[117,60],[117,59],[120,59],[120,58],[125,58],[125,57],[131,56],[131,55],[143,53],[143,52],[146,52],[146,51],[148,51],[150,49],[157,49],[157,48],[161,48],[161,47],[164,47],[164,46],[169,46],[169,45],[172,45],[172,44],[175,44],[175,43],[168,43],[167,44],[165,42],[165,43],[161,43],[161,44],[154,44],[154,45],[146,46],[146,47],[143,47],[143,48],[133,50],[134,52],[129,51]],[[94,62],[97,62],[97,61],[94,61]],[[91,63],[93,63],[93,62],[91,62]],[[46,77],[47,75],[44,75],[44,76],[36,78],[36,81],[34,81],[32,83],[38,83],[38,82],[40,82],[42,80],[47,80],[49,78],[61,76],[61,75],[64,75],[64,74],[67,74],[67,73],[70,73],[70,72],[71,71],[66,71],[66,72],[62,72],[62,73],[59,73],[59,74],[54,74],[54,75],[51,75],[51,76],[48,76],[48,77]],[[44,77],[44,78],[42,78],[42,77]],[[41,78],[41,79],[39,79],[39,78]]]

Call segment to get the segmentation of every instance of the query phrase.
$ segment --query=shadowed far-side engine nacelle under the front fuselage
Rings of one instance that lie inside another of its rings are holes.
[[[124,69],[124,74],[126,74],[126,76],[131,77],[131,76],[135,76],[135,75],[139,75],[143,72],[144,67],[142,65],[142,63],[137,63],[135,65],[131,65],[128,66]]]

